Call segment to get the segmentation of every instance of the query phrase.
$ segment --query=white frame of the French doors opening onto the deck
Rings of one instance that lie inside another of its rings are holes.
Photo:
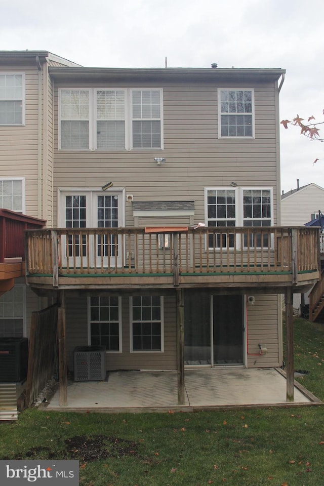
[[[106,191],[102,191],[100,188],[94,189],[87,189],[87,188],[79,188],[76,189],[71,188],[64,188],[58,189],[58,227],[65,228],[65,196],[86,196],[86,228],[96,227],[94,224],[97,221],[97,205],[96,205],[96,197],[97,195],[116,195],[118,197],[118,220],[119,225],[118,227],[125,226],[125,188],[114,188],[108,189]],[[120,241],[119,241],[120,243]],[[65,247],[65,238],[62,237],[62,245],[63,248]],[[82,245],[82,244],[81,244]],[[121,248],[121,245],[120,245]],[[125,249],[124,249],[125,251]],[[90,252],[92,255],[92,251]],[[66,255],[63,257],[63,264],[66,264]],[[73,258],[73,257],[72,257]],[[83,257],[83,261],[87,261],[88,256]],[[107,258],[107,257],[105,257]],[[114,257],[111,257],[111,259]],[[80,257],[76,257],[76,262],[80,261]],[[117,257],[117,266],[119,266],[121,262],[121,253]],[[97,264],[99,265],[99,260],[97,259]],[[101,265],[101,263],[100,263]],[[90,266],[93,266],[93,262],[90,262]]]

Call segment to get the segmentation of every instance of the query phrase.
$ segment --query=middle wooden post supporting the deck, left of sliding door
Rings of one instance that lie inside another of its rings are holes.
[[[178,405],[184,405],[184,289],[176,289]]]

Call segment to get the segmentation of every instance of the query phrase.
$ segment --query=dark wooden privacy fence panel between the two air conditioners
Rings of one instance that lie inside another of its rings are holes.
[[[26,384],[28,407],[57,372],[57,319],[56,304],[32,312]]]

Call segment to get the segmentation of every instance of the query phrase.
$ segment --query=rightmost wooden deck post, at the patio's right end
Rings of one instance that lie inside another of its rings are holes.
[[[287,401],[294,401],[294,319],[293,319],[293,289],[287,287],[285,294],[286,326],[287,326]]]

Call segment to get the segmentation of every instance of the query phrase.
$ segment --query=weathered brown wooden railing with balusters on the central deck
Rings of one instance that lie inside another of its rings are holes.
[[[27,274],[211,274],[318,270],[311,227],[58,228],[26,232]]]

